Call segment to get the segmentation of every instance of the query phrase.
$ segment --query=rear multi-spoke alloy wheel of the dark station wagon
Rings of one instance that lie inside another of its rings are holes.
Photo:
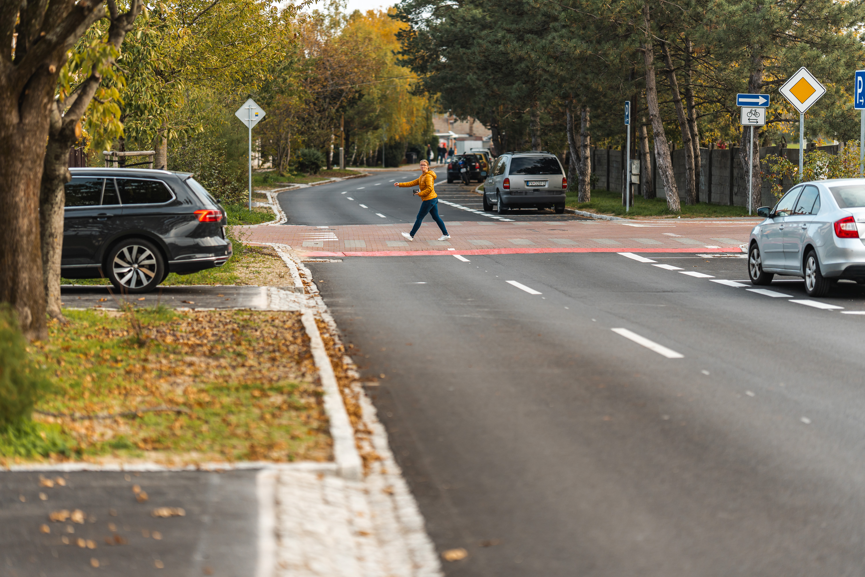
[[[150,292],[165,276],[165,263],[157,247],[144,239],[124,240],[108,253],[106,272],[120,292]]]

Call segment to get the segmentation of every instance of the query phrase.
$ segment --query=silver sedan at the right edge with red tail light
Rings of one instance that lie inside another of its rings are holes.
[[[802,277],[819,297],[838,279],[865,284],[865,178],[836,178],[790,189],[751,231],[748,275],[768,285],[776,274]],[[862,223],[862,229],[859,228]]]

